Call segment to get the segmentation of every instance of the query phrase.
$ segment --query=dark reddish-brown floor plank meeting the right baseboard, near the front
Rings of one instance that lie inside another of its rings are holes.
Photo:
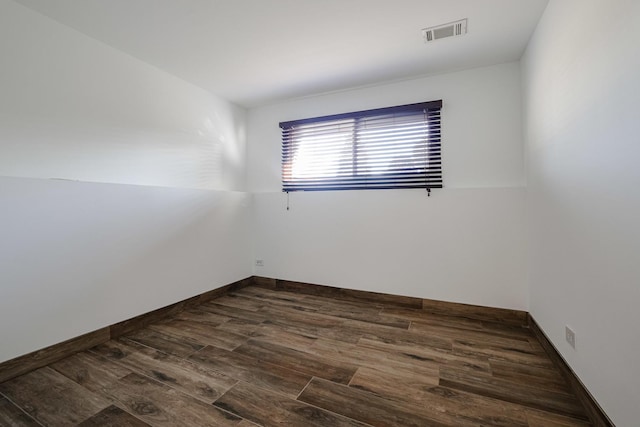
[[[513,402],[531,408],[587,419],[584,408],[575,396],[550,390],[541,390],[524,384],[505,381],[490,375],[471,373],[451,368],[440,369],[440,385],[476,393],[481,396]]]

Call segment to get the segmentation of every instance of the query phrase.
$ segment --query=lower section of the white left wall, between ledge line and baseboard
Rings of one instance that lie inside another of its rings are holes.
[[[0,361],[251,275],[250,195],[0,178]]]

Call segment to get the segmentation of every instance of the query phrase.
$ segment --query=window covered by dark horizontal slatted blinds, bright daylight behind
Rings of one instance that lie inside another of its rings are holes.
[[[442,101],[282,122],[282,190],[442,188]]]

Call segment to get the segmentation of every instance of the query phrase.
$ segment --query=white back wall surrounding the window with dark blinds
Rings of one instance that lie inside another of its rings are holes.
[[[280,121],[443,100],[445,189],[280,192]],[[517,63],[252,109],[248,183],[256,274],[527,308]]]

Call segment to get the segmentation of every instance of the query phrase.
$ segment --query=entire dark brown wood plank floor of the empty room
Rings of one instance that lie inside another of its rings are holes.
[[[0,384],[0,426],[584,426],[526,328],[247,287]]]

